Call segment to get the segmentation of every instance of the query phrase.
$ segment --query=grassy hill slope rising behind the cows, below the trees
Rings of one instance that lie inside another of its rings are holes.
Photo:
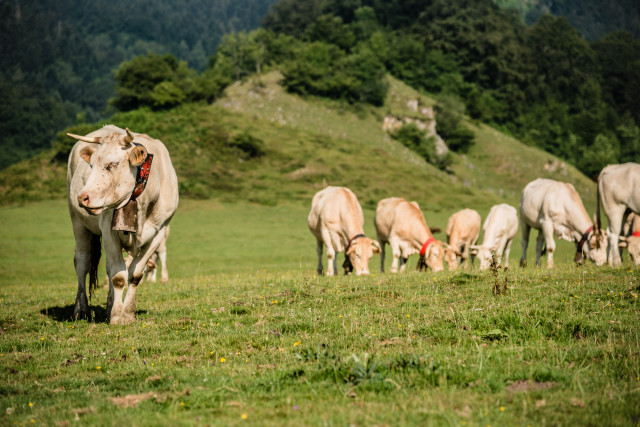
[[[389,114],[415,115],[409,100],[435,101],[393,78],[380,108],[291,95],[279,79],[273,71],[232,85],[213,105],[118,113],[108,122],[163,140],[181,195],[189,198],[306,205],[329,184],[350,187],[369,208],[402,196],[427,211],[488,211],[502,201],[517,204],[522,187],[543,176],[573,183],[588,207],[595,200],[594,184],[573,167],[478,123],[466,123],[477,142],[466,155],[454,154],[453,174],[426,163],[390,138],[382,122]],[[86,133],[104,124],[70,130]],[[63,198],[72,143],[61,132],[51,150],[2,171],[0,204]]]

